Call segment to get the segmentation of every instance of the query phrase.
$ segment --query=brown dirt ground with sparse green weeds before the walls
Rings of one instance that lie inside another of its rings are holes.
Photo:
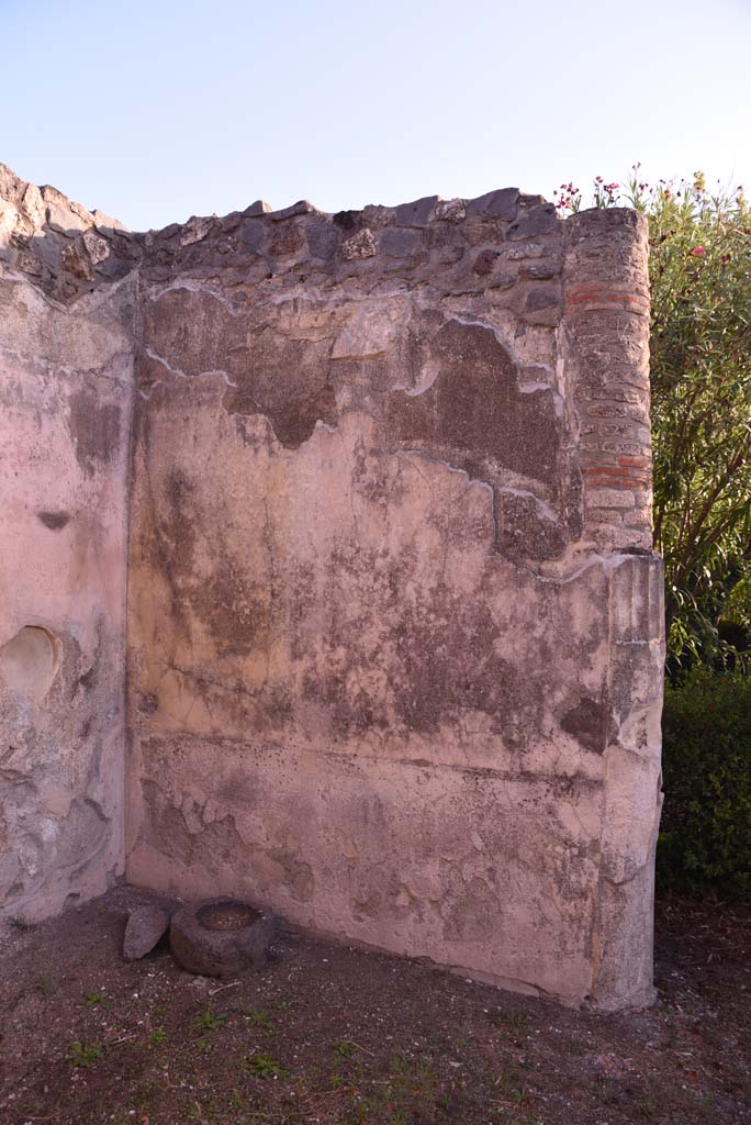
[[[1,1125],[751,1122],[751,906],[660,903],[659,1004],[594,1016],[295,934],[229,984],[127,964],[150,900],[0,924]]]

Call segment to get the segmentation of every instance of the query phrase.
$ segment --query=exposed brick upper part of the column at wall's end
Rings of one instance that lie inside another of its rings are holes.
[[[572,215],[563,234],[563,378],[578,428],[583,538],[652,546],[646,219]]]

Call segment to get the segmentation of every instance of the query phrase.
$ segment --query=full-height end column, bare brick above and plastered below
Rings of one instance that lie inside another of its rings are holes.
[[[654,998],[664,644],[662,565],[651,551],[646,220],[624,208],[582,212],[565,220],[563,245],[560,354],[581,470],[580,546],[615,555],[590,1002],[617,1010]]]

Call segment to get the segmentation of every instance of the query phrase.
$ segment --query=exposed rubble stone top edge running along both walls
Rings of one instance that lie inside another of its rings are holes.
[[[336,213],[307,200],[279,210],[256,200],[225,216],[193,216],[134,233],[0,164],[0,270],[25,274],[65,303],[134,269],[147,286],[179,277],[245,288],[269,278],[317,286],[367,276],[368,284],[402,277],[415,284],[440,279],[449,289],[467,281],[472,291],[500,291],[516,286],[521,276],[527,288],[544,290],[546,280],[561,274],[562,246],[567,260],[571,256],[568,272],[579,272],[579,248],[585,256],[589,248],[599,252],[599,245],[600,256],[617,256],[624,237],[639,238],[643,222],[627,208],[561,219],[542,196],[499,188],[472,199],[434,195]],[[516,269],[527,256],[539,261]],[[517,294],[517,303],[523,296]],[[530,299],[548,303],[543,312],[532,310],[535,323],[558,320],[546,290]]]

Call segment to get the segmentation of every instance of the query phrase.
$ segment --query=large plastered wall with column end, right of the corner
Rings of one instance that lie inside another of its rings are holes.
[[[649,999],[640,217],[255,205],[141,278],[129,878]]]

